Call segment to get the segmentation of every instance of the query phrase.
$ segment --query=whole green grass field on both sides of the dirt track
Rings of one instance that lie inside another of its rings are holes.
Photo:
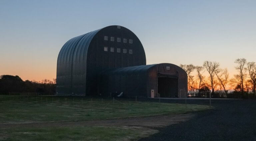
[[[0,95],[0,124],[86,121],[130,116],[183,114],[209,109],[205,105],[139,102],[56,96]],[[127,127],[2,128],[0,140],[136,140],[155,130]]]

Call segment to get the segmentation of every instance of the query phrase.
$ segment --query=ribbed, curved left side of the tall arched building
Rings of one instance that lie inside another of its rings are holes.
[[[76,68],[78,67],[78,65],[81,66],[84,60],[86,63],[86,54],[84,52],[87,53],[87,49],[90,45],[92,38],[99,30],[95,30],[93,32],[74,37],[70,39],[67,43],[65,43],[61,48],[57,60],[56,91],[58,93],[71,94],[72,92],[74,92],[72,91],[74,84],[73,82],[80,83],[81,81],[83,81],[82,78],[79,77],[79,75],[76,75],[79,74],[77,70],[82,69]],[[81,49],[83,49],[83,52],[81,52]],[[73,70],[76,71],[72,72]]]

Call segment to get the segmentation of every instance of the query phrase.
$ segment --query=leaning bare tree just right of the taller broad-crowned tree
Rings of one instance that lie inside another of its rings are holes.
[[[220,82],[220,87],[223,87],[224,89],[224,92],[226,93],[226,95],[228,95],[228,92],[226,90],[226,85],[228,84],[228,79],[229,79],[229,73],[228,73],[228,70],[225,69],[225,70],[222,70],[222,69],[217,69],[215,71],[215,74]]]

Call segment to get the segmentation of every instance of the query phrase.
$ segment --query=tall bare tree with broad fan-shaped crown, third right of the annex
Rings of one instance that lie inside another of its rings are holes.
[[[203,67],[207,70],[207,72],[209,72],[210,76],[209,76],[209,79],[210,79],[210,82],[211,82],[211,86],[212,86],[212,92],[211,94],[214,93],[214,88],[216,87],[216,83],[215,83],[215,80],[214,80],[214,71],[217,70],[219,68],[219,63],[217,62],[210,62],[210,61],[205,61],[204,64],[203,64]]]

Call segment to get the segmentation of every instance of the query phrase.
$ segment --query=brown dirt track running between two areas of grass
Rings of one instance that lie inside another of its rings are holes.
[[[91,121],[58,121],[58,122],[30,122],[30,123],[5,123],[0,128],[10,127],[67,127],[67,126],[138,126],[138,127],[164,127],[187,121],[195,114],[163,115],[147,117],[112,118]]]

